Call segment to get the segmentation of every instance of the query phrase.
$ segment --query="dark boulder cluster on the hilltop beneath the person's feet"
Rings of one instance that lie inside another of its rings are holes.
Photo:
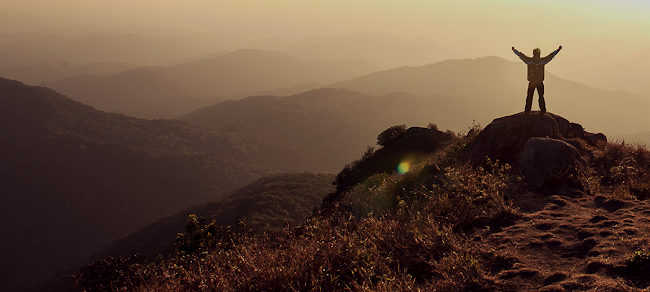
[[[518,113],[495,119],[470,142],[463,161],[484,166],[487,161],[510,164],[531,186],[577,185],[585,163],[583,145],[607,141],[603,134],[585,132],[580,124],[545,113]]]

